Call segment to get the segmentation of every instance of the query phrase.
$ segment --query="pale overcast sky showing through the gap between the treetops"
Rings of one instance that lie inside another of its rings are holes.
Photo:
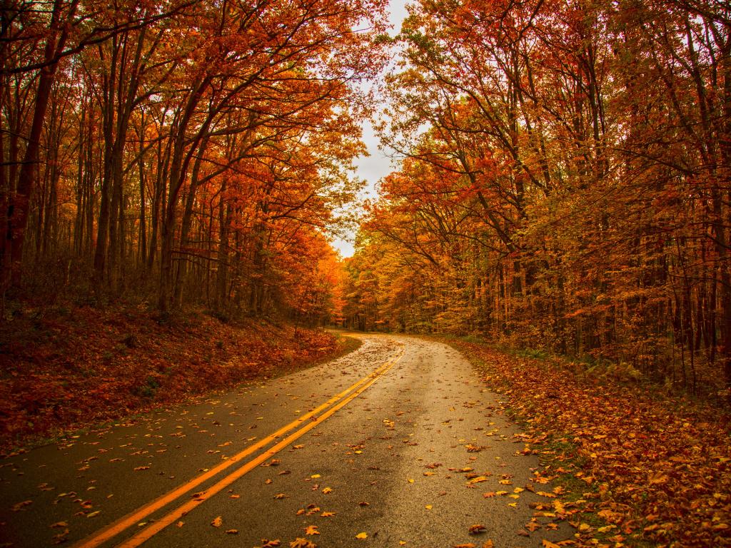
[[[389,22],[393,26],[390,30],[390,34],[394,36],[401,31],[401,21],[406,18],[406,0],[390,0],[389,2]],[[368,153],[370,156],[360,156],[356,159],[355,165],[357,167],[356,175],[361,179],[366,180],[366,190],[364,197],[375,197],[376,196],[376,183],[378,180],[385,175],[388,175],[393,171],[391,159],[379,150],[379,140],[376,137],[373,124],[367,121],[363,124],[363,142],[368,147]],[[333,247],[340,251],[341,256],[349,257],[353,254],[353,242],[352,239],[355,234],[350,235],[349,239],[337,238],[333,241]]]

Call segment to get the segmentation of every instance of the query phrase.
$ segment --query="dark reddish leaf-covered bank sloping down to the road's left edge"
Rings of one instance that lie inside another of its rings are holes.
[[[0,452],[304,367],[344,343],[322,330],[146,308],[26,310],[0,324]]]

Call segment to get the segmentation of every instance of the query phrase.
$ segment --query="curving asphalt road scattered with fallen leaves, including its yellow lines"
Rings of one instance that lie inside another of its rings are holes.
[[[531,490],[551,486],[458,351],[357,336],[333,362],[0,461],[0,546],[501,548],[572,535],[550,517],[526,529],[531,503],[553,509]]]

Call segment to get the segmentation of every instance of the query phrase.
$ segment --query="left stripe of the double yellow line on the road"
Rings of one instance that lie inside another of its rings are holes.
[[[308,420],[311,421],[308,425],[306,425],[307,429],[309,430],[311,427],[314,427],[314,425],[319,424],[320,419],[322,418],[321,416],[318,416],[319,413],[321,413],[322,411],[325,411],[330,406],[333,406],[333,404],[337,403],[338,401],[340,401],[342,398],[346,397],[347,395],[355,393],[354,391],[357,391],[360,389],[360,392],[363,392],[363,389],[365,389],[365,388],[363,388],[364,386],[366,386],[366,385],[367,385],[366,387],[371,386],[371,384],[373,384],[375,382],[376,378],[378,378],[383,373],[385,373],[385,371],[387,371],[388,369],[393,367],[393,364],[395,364],[395,362],[401,358],[401,355],[403,355],[403,351],[401,354],[398,355],[398,357],[386,362],[380,368],[376,369],[373,373],[369,374],[368,376],[366,376],[364,378],[361,378],[355,384],[352,384],[352,386],[344,389],[338,395],[331,397],[330,400],[327,400],[321,406],[318,406],[317,408],[314,408],[312,411],[309,411],[308,413],[304,414],[303,416],[298,417],[298,419],[295,419],[294,421],[290,422],[288,425],[281,427],[279,430],[276,430],[275,433],[268,435],[266,438],[262,438],[262,440],[258,441],[256,444],[249,446],[246,449],[243,449],[243,451],[239,452],[238,454],[235,454],[233,457],[230,457],[230,459],[225,460],[224,462],[215,466],[214,468],[211,468],[211,470],[200,474],[200,476],[194,477],[189,482],[186,482],[178,487],[175,487],[175,489],[165,493],[164,495],[161,495],[160,497],[156,498],[154,501],[151,501],[143,506],[140,506],[140,508],[136,509],[135,511],[132,511],[131,513],[127,514],[126,516],[121,517],[119,520],[116,520],[115,522],[110,523],[110,525],[107,525],[107,527],[103,528],[102,530],[97,531],[96,533],[92,534],[91,536],[88,536],[86,539],[83,539],[79,543],[75,544],[74,548],[95,548],[95,547],[100,546],[101,544],[104,544],[106,541],[117,536],[119,533],[121,533],[122,531],[131,527],[132,525],[137,525],[137,523],[144,520],[145,517],[148,517],[150,514],[153,514],[155,511],[158,511],[159,509],[162,509],[164,506],[167,506],[168,504],[172,503],[176,499],[181,498],[181,496],[185,495],[187,492],[194,490],[195,487],[198,487],[203,482],[206,482],[208,479],[211,479],[214,476],[217,476],[219,473],[221,473],[221,471],[224,471],[226,468],[229,468],[230,466],[240,462],[240,460],[243,460],[245,457],[248,457],[251,453],[257,452],[259,449],[264,448],[265,446],[270,444],[272,441],[274,441],[276,438],[281,437],[281,435],[284,435],[285,433],[289,432],[289,430],[292,430],[292,428],[298,427],[303,422],[306,422]],[[360,394],[360,392],[357,392],[357,394]],[[350,399],[352,399],[352,397]],[[350,400],[347,400],[347,401],[350,401]],[[339,406],[338,409],[340,407],[342,407],[342,405]],[[332,411],[332,410],[330,410],[330,411]],[[334,411],[332,411],[332,412],[330,412],[330,411],[327,412],[328,413],[327,416],[330,416],[334,412]],[[323,416],[325,416],[325,414],[323,414]],[[304,430],[304,431],[306,431],[306,430]],[[292,436],[289,436],[289,437],[291,438]],[[287,438],[287,439],[289,439],[289,438]],[[277,444],[275,447],[277,447],[279,445],[280,444]],[[272,451],[272,449],[270,449],[270,451]],[[279,451],[279,449],[277,449],[277,451]],[[264,455],[268,455],[268,454],[269,454],[269,452],[266,452]],[[265,457],[265,459],[266,458],[267,457]],[[249,463],[247,463],[244,466],[246,467],[248,465],[249,465]],[[246,473],[246,472],[243,472],[243,473]],[[241,475],[243,475],[243,473]]]

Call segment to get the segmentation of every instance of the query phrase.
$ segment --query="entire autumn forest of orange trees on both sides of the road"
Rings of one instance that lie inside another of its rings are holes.
[[[134,297],[477,335],[727,395],[728,5],[424,0],[395,37],[386,8],[13,0],[3,321]],[[341,259],[379,112],[398,161]]]

